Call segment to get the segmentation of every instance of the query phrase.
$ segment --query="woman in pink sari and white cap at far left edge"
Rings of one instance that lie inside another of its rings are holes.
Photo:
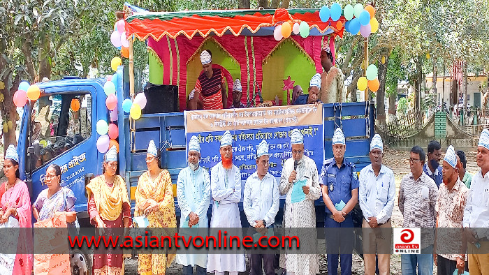
[[[5,161],[3,162],[3,172],[7,177],[7,181],[2,184],[5,192],[1,195],[0,200],[0,223],[7,223],[12,218],[15,223],[15,227],[18,228],[32,228],[31,224],[31,198],[29,197],[29,191],[24,181],[19,179],[19,155],[15,147],[10,144],[5,154]],[[21,230],[20,234],[26,236],[20,236],[17,241],[17,251],[30,251],[32,248],[32,237]],[[15,255],[15,261],[12,263],[0,262],[1,270],[11,270],[11,273],[6,274],[27,274],[32,273],[33,258],[32,254],[20,254]]]

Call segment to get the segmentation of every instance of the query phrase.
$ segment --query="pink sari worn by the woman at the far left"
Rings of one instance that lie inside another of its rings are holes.
[[[17,218],[19,220],[20,228],[32,228],[31,223],[31,199],[29,197],[29,190],[24,181],[19,181],[15,186],[8,189],[3,195],[1,195],[0,207],[4,210],[7,207],[17,207]],[[32,248],[32,236],[20,237],[17,243],[17,251],[27,251]],[[32,273],[33,266],[32,254],[17,254],[15,256],[15,264],[13,267],[13,274],[27,274]]]

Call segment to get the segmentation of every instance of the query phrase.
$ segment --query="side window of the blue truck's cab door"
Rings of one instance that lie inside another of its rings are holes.
[[[88,93],[48,94],[31,111],[31,141],[41,144],[36,168],[87,139],[92,133],[92,101]]]

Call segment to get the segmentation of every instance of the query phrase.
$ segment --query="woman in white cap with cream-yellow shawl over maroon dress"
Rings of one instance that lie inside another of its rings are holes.
[[[112,146],[104,156],[103,174],[87,184],[88,212],[90,223],[97,228],[129,228],[131,206],[124,179],[115,174],[117,170],[117,149]],[[108,248],[107,253],[94,253],[92,274],[124,274],[122,253]]]

